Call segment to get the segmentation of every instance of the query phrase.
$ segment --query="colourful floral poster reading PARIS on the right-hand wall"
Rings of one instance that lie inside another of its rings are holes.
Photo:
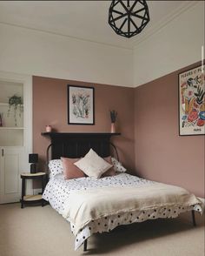
[[[180,135],[205,134],[204,66],[179,74]]]

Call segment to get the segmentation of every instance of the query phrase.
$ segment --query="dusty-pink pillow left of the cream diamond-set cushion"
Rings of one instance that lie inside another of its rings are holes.
[[[61,158],[63,163],[64,179],[77,179],[85,177],[82,172],[74,163],[80,158]]]

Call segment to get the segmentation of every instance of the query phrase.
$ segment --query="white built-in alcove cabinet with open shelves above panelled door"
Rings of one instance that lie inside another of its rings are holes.
[[[17,202],[21,172],[28,172],[32,149],[30,76],[0,72],[0,204]],[[10,106],[9,99],[20,99]]]

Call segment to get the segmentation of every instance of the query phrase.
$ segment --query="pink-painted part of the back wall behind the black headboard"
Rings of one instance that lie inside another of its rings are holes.
[[[95,87],[96,125],[68,125],[67,84]],[[109,110],[118,112],[117,125],[121,136],[113,138],[120,159],[130,172],[135,169],[134,143],[134,89],[83,82],[67,81],[48,77],[33,77],[33,151],[44,159],[48,138],[41,136],[45,125],[52,125],[59,132],[109,132]]]

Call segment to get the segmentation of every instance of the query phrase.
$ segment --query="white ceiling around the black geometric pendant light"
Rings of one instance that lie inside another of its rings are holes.
[[[132,49],[197,1],[147,1],[150,22],[132,38],[108,24],[111,1],[0,1],[0,23]]]

